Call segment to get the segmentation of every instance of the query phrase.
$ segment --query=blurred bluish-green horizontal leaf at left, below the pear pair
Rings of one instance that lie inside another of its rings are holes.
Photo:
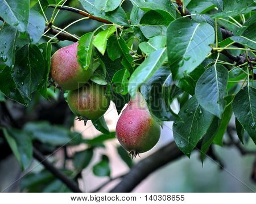
[[[81,142],[81,134],[73,133],[69,129],[51,125],[48,122],[29,122],[23,130],[30,134],[32,139],[52,146],[76,145]]]

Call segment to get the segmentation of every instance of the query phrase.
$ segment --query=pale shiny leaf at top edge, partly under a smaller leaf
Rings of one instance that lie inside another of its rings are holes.
[[[79,0],[79,1],[81,2],[81,5],[85,8],[85,10],[88,11],[93,16],[109,20],[110,22],[118,25],[130,27],[126,13],[122,7],[119,6],[114,11],[104,12],[104,11],[98,10],[94,6],[94,2],[95,2],[94,0]]]

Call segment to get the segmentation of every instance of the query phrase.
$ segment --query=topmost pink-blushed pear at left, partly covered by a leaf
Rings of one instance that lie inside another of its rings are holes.
[[[51,77],[63,90],[76,90],[92,75],[92,69],[84,70],[77,62],[77,45],[57,50],[51,58]]]

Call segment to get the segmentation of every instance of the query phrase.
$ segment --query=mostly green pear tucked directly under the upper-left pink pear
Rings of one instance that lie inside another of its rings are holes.
[[[69,91],[67,101],[71,111],[86,120],[100,118],[110,105],[106,87],[96,83],[86,83],[79,90]]]

